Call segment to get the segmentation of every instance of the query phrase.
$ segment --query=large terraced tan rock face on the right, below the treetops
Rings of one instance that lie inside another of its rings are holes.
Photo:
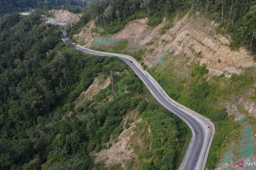
[[[174,22],[174,26],[152,45],[155,50],[145,56],[144,63],[151,66],[164,51],[175,51],[175,54],[180,55],[186,53],[191,61],[206,64],[210,74],[215,75],[224,73],[226,77],[230,77],[233,73],[242,73],[242,68],[255,66],[253,56],[245,48],[232,51],[228,47],[229,40],[226,37],[221,34],[216,35],[214,29],[209,34],[212,24],[213,21],[198,13],[192,17],[186,14],[182,19]],[[163,40],[165,42],[162,42]],[[198,55],[199,53],[201,54]]]

